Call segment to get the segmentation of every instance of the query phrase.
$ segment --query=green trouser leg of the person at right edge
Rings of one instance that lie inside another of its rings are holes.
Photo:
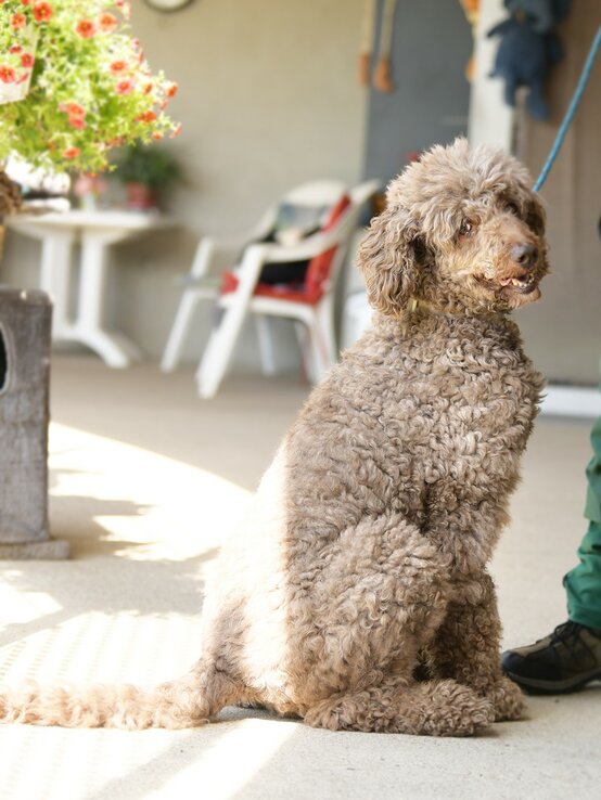
[[[563,579],[570,619],[601,629],[601,416],[590,435],[593,456],[587,467],[585,516],[588,531],[578,547],[580,564]]]

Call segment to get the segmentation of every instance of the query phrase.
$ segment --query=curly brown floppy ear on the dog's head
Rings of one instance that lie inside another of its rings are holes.
[[[368,298],[378,311],[398,317],[418,286],[417,228],[406,209],[387,206],[375,217],[358,254]]]

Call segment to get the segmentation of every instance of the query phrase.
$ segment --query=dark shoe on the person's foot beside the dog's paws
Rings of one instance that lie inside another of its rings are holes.
[[[601,679],[601,629],[564,622],[549,636],[503,653],[501,667],[530,694],[575,692]]]

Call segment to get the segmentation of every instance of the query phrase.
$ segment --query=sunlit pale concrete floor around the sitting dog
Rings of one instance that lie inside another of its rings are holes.
[[[307,395],[233,378],[200,401],[191,371],[53,364],[51,522],[63,563],[0,565],[0,680],[174,678],[200,650],[204,570]],[[565,618],[584,532],[590,422],[538,421],[494,563],[506,644]],[[330,733],[230,709],[194,731],[0,728],[7,800],[552,800],[599,797],[601,686],[529,700],[473,739]]]

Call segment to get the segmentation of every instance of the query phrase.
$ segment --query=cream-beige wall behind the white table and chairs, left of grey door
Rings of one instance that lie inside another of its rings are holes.
[[[161,354],[175,313],[174,275],[189,268],[203,233],[243,231],[300,181],[362,177],[366,95],[355,78],[362,10],[363,0],[196,0],[159,14],[135,0],[133,29],[151,66],[180,86],[170,108],[183,132],[172,146],[188,179],[169,197],[177,231],[114,248],[110,324],[150,357]],[[34,285],[38,254],[11,234],[3,280]],[[242,358],[254,361],[253,349]]]

